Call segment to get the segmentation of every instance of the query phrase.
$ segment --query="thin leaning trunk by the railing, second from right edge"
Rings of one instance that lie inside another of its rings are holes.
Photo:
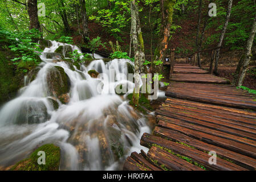
[[[229,24],[229,18],[230,18],[230,13],[231,13],[231,7],[232,7],[232,2],[233,0],[229,0],[229,5],[227,7],[227,14],[226,14],[226,20],[224,23],[224,27],[222,28],[220,40],[218,42],[218,47],[222,46],[222,42],[227,30],[227,25]],[[216,59],[215,59],[215,65],[214,65],[214,73],[218,75],[218,60],[220,59],[220,48],[216,50]]]

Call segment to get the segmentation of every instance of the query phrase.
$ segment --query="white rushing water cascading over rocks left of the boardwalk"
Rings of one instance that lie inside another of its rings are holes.
[[[125,96],[110,92],[118,84],[133,86],[132,82],[123,77],[114,82],[92,78],[88,71],[109,75],[109,69],[115,69],[127,75],[127,65],[133,63],[125,59],[104,63],[100,55],[94,55],[100,60],[77,68],[54,53],[59,46],[71,45],[51,43],[40,56],[43,62],[35,79],[25,77],[26,86],[19,96],[0,109],[0,167],[26,158],[37,146],[53,143],[61,149],[60,170],[122,169],[131,152],[147,151],[139,144],[141,135],[151,132],[147,118],[133,110]],[[71,47],[81,53],[78,47]],[[55,66],[63,68],[70,80],[69,102],[65,105],[49,91],[48,74]],[[58,109],[53,104],[56,102]]]

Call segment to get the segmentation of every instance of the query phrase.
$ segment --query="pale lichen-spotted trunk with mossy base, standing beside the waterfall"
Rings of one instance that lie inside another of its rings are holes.
[[[133,42],[133,49],[134,49],[134,64],[135,64],[135,88],[133,90],[132,101],[133,104],[136,106],[139,104],[139,97],[140,97],[140,51],[139,51],[139,43],[137,38],[137,19],[136,19],[136,7],[135,7],[135,0],[131,1],[131,31],[132,31],[132,42]]]

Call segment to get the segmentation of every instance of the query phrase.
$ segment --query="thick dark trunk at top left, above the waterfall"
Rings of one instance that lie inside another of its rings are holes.
[[[27,0],[27,13],[29,14],[30,27],[29,29],[37,29],[41,31],[40,23],[38,20],[37,0]]]

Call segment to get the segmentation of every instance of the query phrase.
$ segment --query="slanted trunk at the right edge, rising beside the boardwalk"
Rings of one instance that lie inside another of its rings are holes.
[[[256,33],[256,16],[254,18],[253,27],[251,28],[251,33],[249,36],[249,39],[247,40],[247,46],[246,46],[246,56],[243,56],[243,61],[241,61],[242,68],[239,70],[238,79],[235,83],[236,86],[241,86],[243,83],[243,80],[245,78],[246,71],[248,69],[248,65],[251,60],[251,47],[253,46],[254,36]],[[238,65],[239,66],[239,65]]]

